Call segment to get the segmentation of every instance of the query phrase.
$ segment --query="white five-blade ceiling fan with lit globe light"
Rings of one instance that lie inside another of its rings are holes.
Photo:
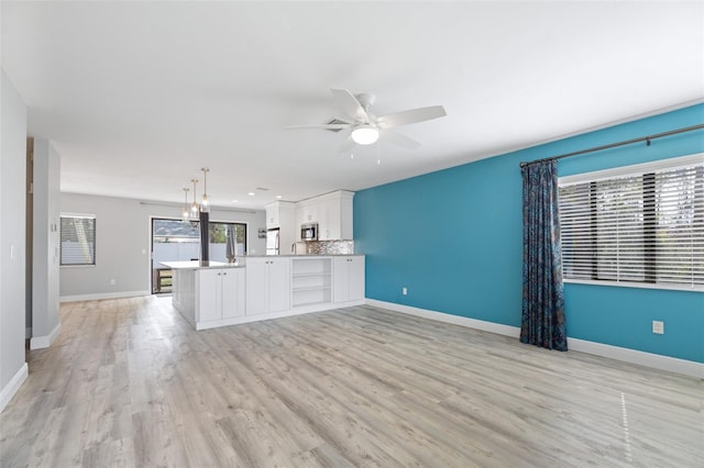
[[[344,131],[348,137],[341,151],[350,149],[355,143],[358,145],[376,143],[380,133],[392,143],[415,149],[420,146],[420,143],[393,129],[447,115],[442,105],[430,105],[376,116],[370,111],[376,100],[374,94],[352,94],[346,89],[331,89],[330,91],[332,91],[332,97],[344,111],[344,115],[336,116],[323,124],[289,125],[288,127],[324,129],[333,132]]]

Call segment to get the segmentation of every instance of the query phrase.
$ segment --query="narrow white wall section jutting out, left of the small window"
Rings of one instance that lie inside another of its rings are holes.
[[[34,140],[32,223],[32,349],[58,335],[61,156],[46,140]]]

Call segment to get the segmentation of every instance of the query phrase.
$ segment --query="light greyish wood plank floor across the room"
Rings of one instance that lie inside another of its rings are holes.
[[[702,380],[371,307],[196,332],[62,305],[2,467],[701,467]]]

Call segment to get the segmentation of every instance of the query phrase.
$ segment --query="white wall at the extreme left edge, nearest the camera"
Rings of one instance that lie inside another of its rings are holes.
[[[28,376],[25,335],[26,105],[0,76],[0,411]]]

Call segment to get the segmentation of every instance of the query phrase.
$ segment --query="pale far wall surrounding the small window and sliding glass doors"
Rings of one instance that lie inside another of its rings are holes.
[[[61,212],[96,215],[96,265],[61,267],[62,301],[151,293],[151,218],[179,219],[180,205],[62,193]],[[265,226],[264,211],[221,211],[213,208],[210,221],[246,223],[250,254],[265,253],[266,239],[257,237],[258,229]]]

